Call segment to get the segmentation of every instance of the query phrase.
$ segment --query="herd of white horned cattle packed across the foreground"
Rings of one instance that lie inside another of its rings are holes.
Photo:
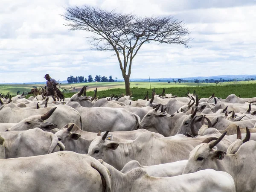
[[[256,97],[85,90],[0,94],[0,192],[256,192]]]

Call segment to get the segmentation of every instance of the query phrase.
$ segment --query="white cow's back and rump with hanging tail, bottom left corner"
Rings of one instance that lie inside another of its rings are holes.
[[[72,151],[3,159],[0,170],[1,192],[111,192],[108,170]]]

